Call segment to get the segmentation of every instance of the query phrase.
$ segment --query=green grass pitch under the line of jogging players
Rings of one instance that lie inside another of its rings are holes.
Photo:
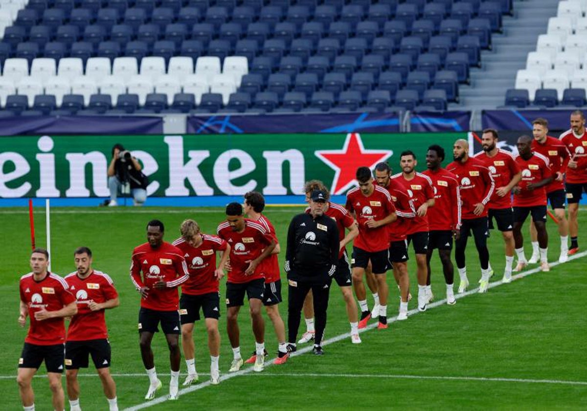
[[[280,240],[285,240],[292,215],[301,210],[274,207],[266,210]],[[73,271],[73,250],[80,245],[92,248],[95,268],[109,273],[120,292],[120,307],[107,313],[113,348],[112,372],[143,374],[136,332],[139,296],[128,275],[131,251],[145,241],[145,225],[151,218],[164,221],[166,240],[172,241],[177,237],[179,224],[187,217],[195,218],[205,233],[214,233],[223,218],[222,210],[55,208],[53,211],[53,271],[61,275]],[[0,389],[4,392],[3,408],[12,410],[21,409],[18,389],[14,379],[5,377],[16,375],[16,363],[26,333],[18,326],[16,318],[18,278],[29,271],[30,236],[27,210],[4,209],[0,210],[0,216],[5,238],[0,254],[3,272],[0,276],[0,306],[5,313],[0,320],[0,339],[4,342],[0,356]],[[43,210],[36,210],[35,218],[37,244],[43,246]],[[585,213],[580,213],[580,218],[579,227],[585,227]],[[558,234],[554,224],[549,223],[548,228],[552,239],[549,260],[555,261],[559,251]],[[471,283],[476,283],[480,272],[472,242],[469,248],[469,278]],[[285,244],[282,244],[282,250],[285,252]],[[492,233],[490,254],[496,273],[493,279],[497,281],[504,267],[499,233]],[[283,255],[280,257],[283,261]],[[455,306],[441,305],[413,315],[408,321],[393,322],[386,331],[367,331],[361,335],[361,345],[352,345],[345,339],[325,346],[326,355],[323,357],[295,356],[286,365],[266,368],[261,375],[247,373],[222,381],[218,386],[205,386],[181,396],[176,403],[164,402],[155,408],[584,409],[587,404],[584,261],[584,258],[579,259],[554,267],[549,273],[529,275],[512,284],[492,288],[486,295],[469,295],[459,299]],[[413,264],[412,258],[411,291],[415,297]],[[435,258],[433,291],[437,299],[444,298],[445,294],[439,266]],[[389,282],[392,284],[393,280]],[[457,287],[458,280],[456,283]],[[369,296],[368,300],[371,306],[372,298]],[[397,313],[397,301],[397,288],[390,287],[389,316]],[[415,307],[414,298],[410,309]],[[282,304],[284,319],[286,311],[286,305]],[[241,349],[247,355],[253,350],[254,341],[247,310],[243,309],[241,313]],[[326,338],[348,332],[344,305],[336,286],[332,289],[328,314]],[[227,375],[232,355],[224,316],[220,328],[220,368],[222,375]],[[196,360],[198,371],[203,374],[202,381],[208,379],[209,370],[204,334],[202,325],[197,324]],[[266,322],[266,345],[270,353],[276,351],[270,322]],[[154,352],[158,372],[168,373],[167,348],[161,335],[154,339]],[[41,375],[44,372],[42,366]],[[92,367],[82,372],[95,374]],[[182,372],[185,372],[183,361]],[[466,378],[562,380],[583,382],[583,385]],[[161,379],[164,387],[160,394],[164,395],[168,375],[162,375]],[[118,376],[115,380],[120,409],[144,402],[148,385],[146,376]],[[80,378],[80,384],[84,410],[107,409],[95,376]],[[33,388],[37,409],[49,409],[47,380],[35,379]]]

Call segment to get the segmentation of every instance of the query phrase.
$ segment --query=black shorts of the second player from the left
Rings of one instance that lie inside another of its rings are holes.
[[[65,343],[65,369],[87,368],[89,355],[98,368],[110,366],[110,342],[106,338]]]

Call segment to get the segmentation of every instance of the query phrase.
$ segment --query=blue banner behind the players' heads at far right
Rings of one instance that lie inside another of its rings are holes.
[[[568,130],[573,110],[483,110],[481,124],[484,129],[532,130],[532,120],[548,120],[549,130]]]

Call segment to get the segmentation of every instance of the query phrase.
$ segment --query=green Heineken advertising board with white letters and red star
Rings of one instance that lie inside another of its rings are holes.
[[[116,143],[143,164],[150,197],[302,194],[312,178],[344,194],[357,167],[387,160],[399,172],[399,154],[412,150],[424,170],[430,144],[447,150],[447,164],[461,138],[467,133],[0,137],[0,198],[108,197]]]

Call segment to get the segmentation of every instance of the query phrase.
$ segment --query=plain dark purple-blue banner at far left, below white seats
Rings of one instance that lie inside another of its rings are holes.
[[[39,116],[0,119],[0,135],[163,134],[162,117]]]

